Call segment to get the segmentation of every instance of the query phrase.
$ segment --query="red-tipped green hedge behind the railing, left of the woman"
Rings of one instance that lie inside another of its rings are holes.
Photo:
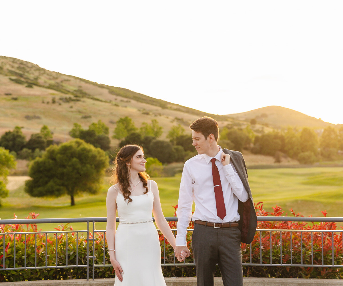
[[[37,218],[39,214],[30,213],[27,218]],[[14,216],[16,218],[16,216]],[[1,220],[0,220],[1,223]],[[87,233],[74,232],[68,224],[55,228],[55,233],[39,233],[37,224],[0,224],[0,268],[15,267],[42,267],[87,264]],[[68,234],[66,233],[68,232]],[[3,233],[15,232],[16,234]],[[38,232],[27,233],[23,232]],[[95,232],[95,264],[103,264],[104,261],[104,233]],[[3,241],[5,239],[5,242]],[[89,239],[93,239],[90,233]],[[26,241],[26,242],[25,242]],[[76,255],[76,243],[78,245]],[[5,245],[5,248],[2,247]],[[14,246],[15,245],[15,246]],[[35,245],[36,251],[35,251]],[[15,249],[15,259],[14,259]],[[26,251],[25,251],[26,249]],[[67,251],[68,250],[68,251]],[[5,260],[4,257],[5,256]],[[89,241],[89,256],[93,256],[92,241]],[[105,263],[110,263],[106,257]],[[92,277],[93,260],[90,259],[90,273]],[[95,267],[95,278],[115,277],[112,267]],[[86,267],[48,268],[48,269],[25,269],[25,270],[0,270],[0,282],[34,281],[34,280],[59,280],[59,279],[86,279]]]

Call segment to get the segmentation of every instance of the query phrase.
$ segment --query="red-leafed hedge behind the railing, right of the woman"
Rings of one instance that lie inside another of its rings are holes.
[[[174,206],[173,206],[174,207]],[[176,209],[175,214],[176,216]],[[273,212],[263,209],[262,202],[255,205],[257,216],[284,215],[281,207],[273,207]],[[301,217],[290,209],[294,217]],[[322,211],[324,216],[326,211]],[[287,215],[287,214],[286,214]],[[176,222],[169,222],[171,229],[176,229]],[[189,229],[193,229],[194,223],[191,221]],[[257,231],[250,244],[241,244],[243,263],[264,264],[244,265],[243,273],[245,277],[287,277],[287,278],[337,278],[342,279],[343,270],[340,267],[317,267],[314,265],[332,265],[332,242],[334,243],[333,255],[334,265],[342,265],[342,231],[336,230],[335,222],[294,222],[294,221],[259,221],[257,229],[268,231]],[[281,231],[280,230],[292,230]],[[308,230],[302,233],[297,230]],[[311,234],[312,233],[312,234]],[[187,234],[187,247],[191,250],[191,232]],[[160,233],[161,257],[163,258],[163,236]],[[282,247],[281,247],[282,243]],[[322,251],[323,250],[323,251]],[[251,255],[250,255],[251,251]],[[166,242],[166,263],[174,262],[174,250]],[[250,258],[251,257],[251,258]],[[276,266],[272,264],[307,264],[304,266]],[[292,263],[291,263],[292,262]],[[183,262],[176,263],[182,264]],[[193,256],[186,258],[186,263],[193,263]],[[194,277],[195,267],[175,267],[164,266],[165,277]],[[216,276],[220,276],[220,271],[216,271]]]

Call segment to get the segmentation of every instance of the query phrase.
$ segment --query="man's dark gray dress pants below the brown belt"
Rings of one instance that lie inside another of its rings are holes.
[[[240,237],[237,227],[194,225],[192,252],[196,264],[197,286],[214,286],[216,264],[222,274],[224,286],[243,286]]]

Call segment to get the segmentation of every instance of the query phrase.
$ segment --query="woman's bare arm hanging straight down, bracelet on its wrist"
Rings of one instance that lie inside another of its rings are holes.
[[[116,272],[116,276],[118,276],[119,280],[122,281],[122,274],[123,271],[120,267],[119,262],[116,260],[116,252],[115,250],[115,236],[116,236],[116,214],[117,214],[117,199],[118,192],[116,189],[111,186],[107,191],[106,197],[106,210],[107,210],[107,222],[106,222],[106,241],[107,241],[107,249],[108,255],[111,261],[111,264]]]

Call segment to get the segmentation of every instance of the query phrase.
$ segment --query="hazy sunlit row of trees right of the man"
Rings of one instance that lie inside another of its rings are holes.
[[[343,150],[343,127],[335,129],[328,126],[321,130],[289,127],[284,131],[274,130],[262,135],[255,135],[249,126],[245,129],[224,127],[220,138],[225,143],[224,146],[274,156],[275,162],[280,162],[282,156],[296,159],[303,164],[331,161],[340,158],[339,151]],[[227,148],[230,149],[229,147]]]

